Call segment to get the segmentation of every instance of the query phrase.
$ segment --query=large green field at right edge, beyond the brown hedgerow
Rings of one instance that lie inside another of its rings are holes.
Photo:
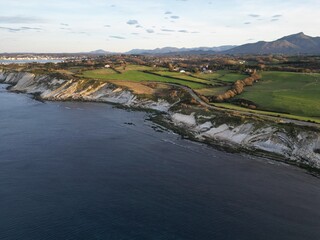
[[[262,80],[237,96],[258,109],[320,119],[320,74],[263,72]]]

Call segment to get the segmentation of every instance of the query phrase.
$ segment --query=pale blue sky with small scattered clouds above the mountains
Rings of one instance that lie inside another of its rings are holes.
[[[0,52],[125,52],[320,36],[320,0],[0,0]]]

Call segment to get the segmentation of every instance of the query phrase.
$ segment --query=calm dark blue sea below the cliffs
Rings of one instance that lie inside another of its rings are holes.
[[[320,179],[0,85],[0,239],[320,239]]]

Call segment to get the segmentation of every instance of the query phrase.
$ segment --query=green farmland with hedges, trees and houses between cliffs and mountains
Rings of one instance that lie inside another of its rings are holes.
[[[110,55],[2,68],[110,82],[148,98],[155,94],[150,84],[187,87],[222,110],[320,122],[320,58],[316,56]],[[165,98],[165,88],[161,92]]]

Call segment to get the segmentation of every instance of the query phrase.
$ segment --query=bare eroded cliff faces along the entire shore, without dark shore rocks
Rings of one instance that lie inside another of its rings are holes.
[[[319,129],[288,127],[270,122],[261,124],[252,119],[232,122],[227,117],[221,123],[221,119],[217,121],[216,116],[173,112],[170,108],[175,104],[162,99],[141,99],[129,90],[95,80],[64,80],[0,70],[0,82],[11,84],[13,91],[36,93],[45,100],[109,102],[159,110],[167,113],[172,124],[186,129],[200,141],[209,140],[235,149],[276,153],[291,161],[320,169]]]

